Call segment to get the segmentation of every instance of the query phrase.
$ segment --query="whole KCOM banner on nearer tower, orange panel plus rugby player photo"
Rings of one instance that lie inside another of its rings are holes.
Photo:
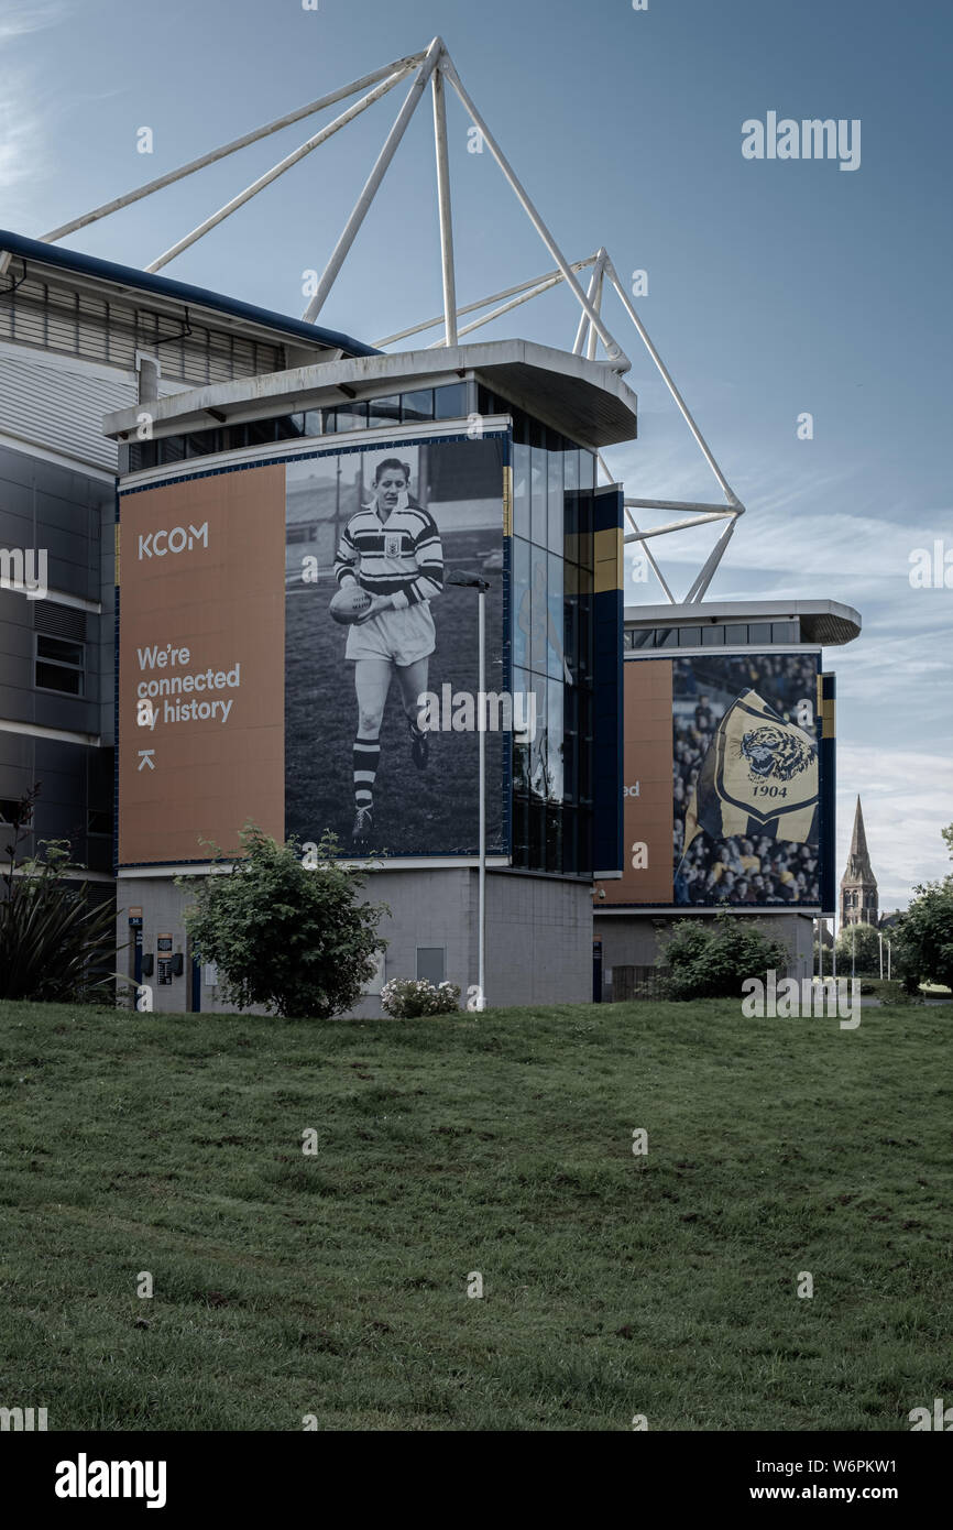
[[[506,854],[503,435],[324,448],[128,490],[119,864],[254,822],[353,855]],[[486,591],[482,713],[476,588]],[[525,721],[525,719],[523,719]]]

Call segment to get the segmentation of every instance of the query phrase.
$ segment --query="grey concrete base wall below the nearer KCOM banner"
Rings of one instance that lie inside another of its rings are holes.
[[[390,942],[382,979],[416,978],[418,947],[442,949],[448,982],[460,988],[460,1004],[477,982],[477,872],[471,868],[433,871],[379,871],[366,883],[370,903],[385,903],[381,935]],[[171,878],[144,877],[119,881],[118,944],[130,941],[128,909],[142,909],[142,950],[156,953],[159,935],[171,935],[173,953],[184,956],[184,973],[159,987],[156,973],[144,978],[153,988],[153,1008],[190,1010],[191,964],[182,912],[188,892]],[[118,970],[132,975],[133,947],[119,956]],[[486,1004],[587,1004],[592,999],[592,889],[584,883],[512,872],[486,874]],[[217,988],[202,984],[202,1011],[223,1013]],[[376,993],[352,1011],[381,1014]]]

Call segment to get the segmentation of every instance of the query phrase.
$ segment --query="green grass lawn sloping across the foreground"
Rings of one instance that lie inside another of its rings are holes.
[[[951,1027],[0,1004],[0,1403],[50,1429],[907,1431],[953,1397]]]

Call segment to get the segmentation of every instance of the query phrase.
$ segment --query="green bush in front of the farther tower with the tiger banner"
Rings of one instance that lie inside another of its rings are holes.
[[[661,985],[667,999],[733,999],[740,998],[745,978],[786,972],[791,955],[757,924],[724,912],[714,920],[678,920],[662,961],[668,967]]]

